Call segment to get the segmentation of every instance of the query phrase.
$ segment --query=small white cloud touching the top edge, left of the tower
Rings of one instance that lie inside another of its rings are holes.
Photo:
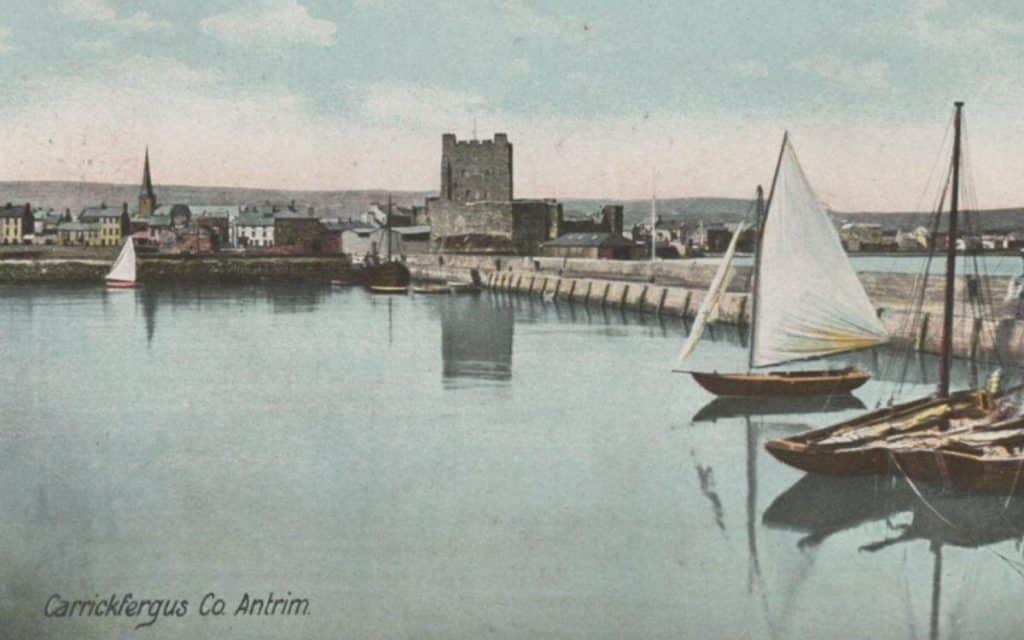
[[[337,25],[309,15],[297,0],[260,0],[200,20],[200,29],[230,44],[334,44]]]

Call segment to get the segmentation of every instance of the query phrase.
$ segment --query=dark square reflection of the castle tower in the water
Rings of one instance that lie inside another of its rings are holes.
[[[443,377],[510,379],[515,327],[512,306],[493,296],[446,296],[437,301]]]

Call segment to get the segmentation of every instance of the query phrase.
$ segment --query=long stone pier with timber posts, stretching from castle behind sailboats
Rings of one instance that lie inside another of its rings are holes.
[[[692,317],[703,301],[717,265],[710,261],[585,260],[563,258],[510,258],[487,256],[411,256],[413,276],[419,280],[471,282],[502,292],[537,296],[551,301],[632,309],[643,313]],[[937,353],[942,323],[943,282],[932,278],[924,294],[923,313],[913,314],[910,299],[916,276],[906,273],[865,271],[858,273],[883,325],[897,344]],[[750,267],[737,267],[728,291],[722,296],[718,322],[746,325],[751,318]],[[1008,278],[986,279],[996,301],[989,319],[954,312],[953,351],[961,357],[991,357],[1004,361],[1024,357],[1024,323],[1016,319],[1016,308],[1001,303]],[[957,300],[969,283],[956,282]]]

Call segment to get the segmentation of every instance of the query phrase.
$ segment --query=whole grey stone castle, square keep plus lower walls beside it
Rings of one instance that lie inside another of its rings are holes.
[[[431,249],[438,253],[535,255],[558,234],[562,206],[554,200],[515,200],[512,144],[441,136],[440,197],[427,199]]]

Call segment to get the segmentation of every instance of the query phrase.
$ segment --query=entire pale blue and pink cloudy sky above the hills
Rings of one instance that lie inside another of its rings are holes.
[[[0,181],[437,189],[475,121],[517,197],[749,198],[788,130],[833,208],[927,209],[962,99],[977,205],[1024,206],[1017,0],[0,7]]]

